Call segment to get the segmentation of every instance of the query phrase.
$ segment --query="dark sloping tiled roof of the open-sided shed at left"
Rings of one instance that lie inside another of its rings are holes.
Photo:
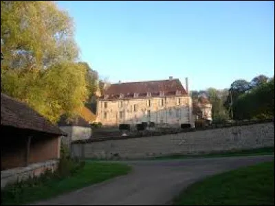
[[[1,93],[1,126],[36,130],[54,135],[67,135],[27,104]]]

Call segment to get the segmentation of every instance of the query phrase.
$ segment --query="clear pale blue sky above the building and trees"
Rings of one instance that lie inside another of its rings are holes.
[[[57,1],[81,60],[111,82],[189,78],[190,89],[274,76],[274,1]]]

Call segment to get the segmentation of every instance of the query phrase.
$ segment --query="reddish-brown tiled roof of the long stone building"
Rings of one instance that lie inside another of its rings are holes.
[[[120,94],[124,94],[124,97],[131,98],[134,93],[138,93],[139,96],[146,95],[146,93],[151,93],[152,96],[159,95],[159,92],[164,92],[165,95],[175,95],[176,91],[180,91],[181,95],[187,95],[179,79],[111,84],[104,91],[104,95],[118,98]]]

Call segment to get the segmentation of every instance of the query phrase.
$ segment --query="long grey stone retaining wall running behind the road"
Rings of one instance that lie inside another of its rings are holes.
[[[199,130],[188,133],[72,144],[72,156],[137,159],[274,146],[274,123]]]

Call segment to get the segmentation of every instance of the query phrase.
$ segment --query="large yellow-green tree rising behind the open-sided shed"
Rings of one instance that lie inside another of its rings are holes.
[[[52,122],[75,115],[87,99],[87,69],[67,12],[53,1],[1,1],[1,92]]]

